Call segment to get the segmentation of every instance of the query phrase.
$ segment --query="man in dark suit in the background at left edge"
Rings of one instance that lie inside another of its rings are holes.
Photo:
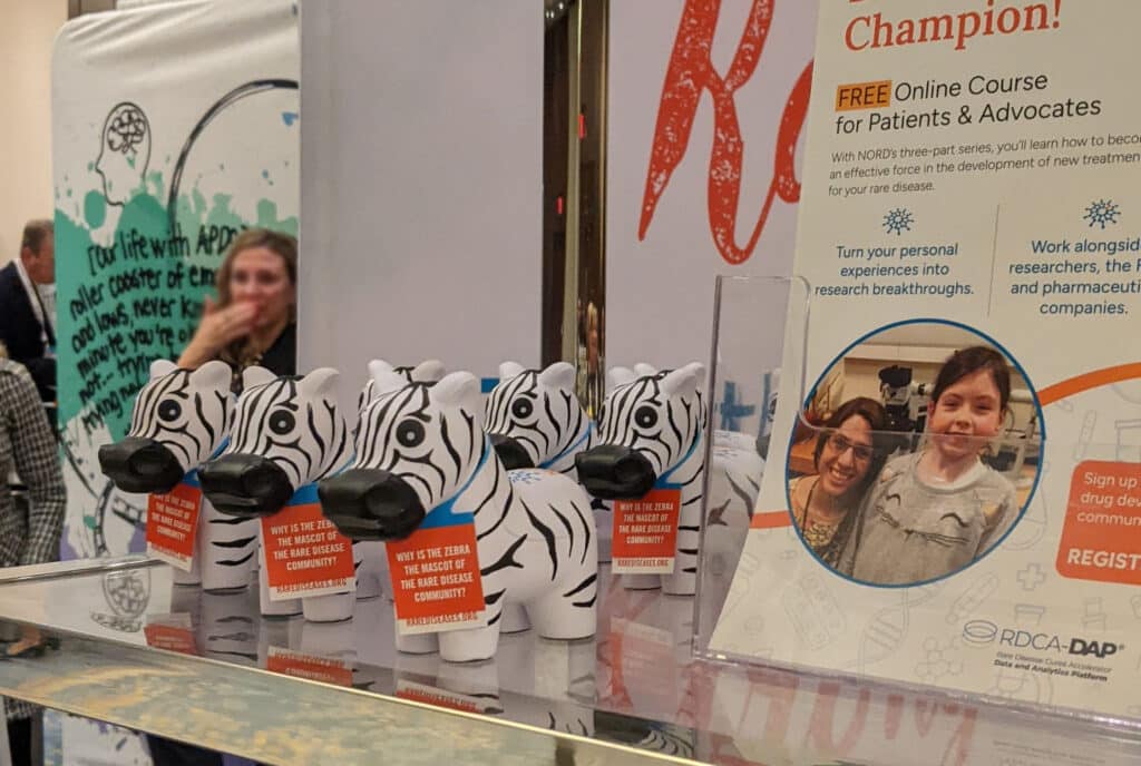
[[[0,341],[32,374],[40,399],[56,401],[56,243],[50,220],[24,226],[19,259],[0,269]]]

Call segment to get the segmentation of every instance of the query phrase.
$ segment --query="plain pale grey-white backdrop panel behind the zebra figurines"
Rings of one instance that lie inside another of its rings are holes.
[[[537,364],[542,3],[307,3],[301,51],[301,368]]]

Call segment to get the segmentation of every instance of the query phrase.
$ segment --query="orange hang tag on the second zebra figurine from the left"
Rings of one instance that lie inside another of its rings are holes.
[[[322,515],[314,484],[261,520],[261,544],[270,601],[356,590],[353,543]]]

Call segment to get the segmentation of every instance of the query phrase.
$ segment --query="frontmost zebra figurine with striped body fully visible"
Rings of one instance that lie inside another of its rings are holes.
[[[508,471],[483,430],[479,381],[453,373],[432,386],[375,370],[378,397],[364,409],[356,461],[321,482],[325,516],[353,539],[398,540],[435,510],[475,519],[485,625],[403,636],[402,652],[438,645],[447,661],[495,655],[504,604],[523,604],[541,636],[592,636],[598,552],[590,499],[548,471]]]

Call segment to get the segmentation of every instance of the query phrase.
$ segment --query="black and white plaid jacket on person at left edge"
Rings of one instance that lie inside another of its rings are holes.
[[[40,394],[27,370],[0,359],[0,479],[13,470],[27,487],[26,513],[0,484],[0,567],[56,561],[63,533],[64,480],[59,450]],[[31,707],[6,700],[8,718],[26,717]]]

